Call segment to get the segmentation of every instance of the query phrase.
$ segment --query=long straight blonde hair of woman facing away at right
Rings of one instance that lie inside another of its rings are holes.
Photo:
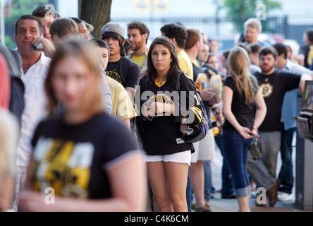
[[[227,59],[228,74],[233,76],[238,92],[245,93],[245,103],[254,101],[257,92],[257,78],[250,73],[250,59],[242,47],[233,47]]]

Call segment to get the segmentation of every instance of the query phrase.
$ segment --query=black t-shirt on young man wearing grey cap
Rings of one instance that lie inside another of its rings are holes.
[[[121,83],[124,88],[135,88],[139,85],[141,70],[138,64],[122,57],[116,62],[109,62],[106,67],[106,75]]]

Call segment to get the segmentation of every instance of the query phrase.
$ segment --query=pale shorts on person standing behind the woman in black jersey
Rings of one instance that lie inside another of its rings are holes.
[[[212,129],[209,129],[207,136],[197,143],[193,143],[195,153],[191,155],[191,162],[213,160],[215,155],[215,139]]]

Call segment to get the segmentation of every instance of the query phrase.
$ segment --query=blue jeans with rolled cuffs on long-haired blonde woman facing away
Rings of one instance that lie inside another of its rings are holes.
[[[250,195],[250,176],[247,172],[249,146],[253,138],[245,139],[238,131],[223,131],[223,156],[231,170],[231,180],[237,198]]]

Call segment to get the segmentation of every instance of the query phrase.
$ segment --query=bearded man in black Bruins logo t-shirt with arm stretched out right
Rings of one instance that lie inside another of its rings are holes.
[[[269,196],[269,205],[274,206],[277,201],[278,189],[281,184],[276,180],[276,163],[281,147],[281,108],[283,97],[287,91],[299,88],[302,92],[305,80],[312,80],[309,74],[297,75],[294,73],[278,72],[278,54],[274,47],[262,47],[259,51],[261,72],[254,73],[259,81],[259,87],[267,107],[266,117],[259,129],[260,138],[257,146],[262,153],[259,161],[249,156],[247,169],[258,187],[264,187]],[[270,144],[270,145],[269,145]],[[259,204],[259,203],[257,203]]]

